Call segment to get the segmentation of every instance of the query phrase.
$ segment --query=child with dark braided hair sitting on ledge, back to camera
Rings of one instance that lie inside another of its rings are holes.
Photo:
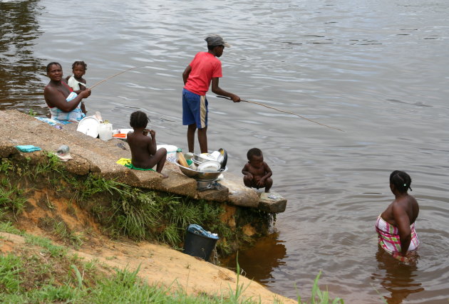
[[[167,150],[160,148],[156,151],[156,132],[154,130],[146,130],[148,116],[142,111],[136,111],[131,114],[130,126],[134,132],[127,135],[128,145],[131,150],[131,162],[134,167],[141,169],[150,169],[158,164],[156,172],[162,174],[162,178],[167,178],[167,174],[162,173],[162,168],[167,158]],[[150,136],[148,136],[150,133]]]

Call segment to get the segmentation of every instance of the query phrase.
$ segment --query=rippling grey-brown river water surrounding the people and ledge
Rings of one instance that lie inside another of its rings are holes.
[[[65,75],[86,61],[88,85],[143,66],[98,85],[86,107],[114,127],[144,110],[158,142],[185,148],[181,73],[220,33],[232,44],[222,88],[344,130],[208,95],[210,149],[240,174],[259,147],[289,200],[273,233],[239,253],[247,276],[291,298],[322,271],[321,288],[346,303],[447,303],[448,14],[446,0],[3,0],[0,109],[47,115],[51,61]],[[376,243],[393,169],[411,175],[420,204],[416,266]]]

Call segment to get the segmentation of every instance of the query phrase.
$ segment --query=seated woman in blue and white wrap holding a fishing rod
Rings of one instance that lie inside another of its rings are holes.
[[[86,115],[81,110],[81,101],[91,95],[91,90],[83,90],[78,95],[73,92],[63,80],[62,67],[57,62],[48,63],[47,75],[50,82],[43,90],[43,96],[50,108],[51,118],[71,122],[82,120]]]

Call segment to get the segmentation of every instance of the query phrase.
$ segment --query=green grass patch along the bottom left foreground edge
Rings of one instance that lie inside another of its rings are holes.
[[[28,252],[31,254],[31,251]],[[105,275],[79,258],[0,256],[1,303],[255,303],[240,294],[187,295],[180,285],[151,285],[125,267]],[[75,262],[75,263],[73,263]],[[42,266],[45,264],[45,266]]]

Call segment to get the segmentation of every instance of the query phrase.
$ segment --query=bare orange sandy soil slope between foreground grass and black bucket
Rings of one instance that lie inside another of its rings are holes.
[[[0,232],[0,236],[1,253],[14,252],[26,246],[21,236],[3,232]],[[120,269],[128,267],[129,271],[140,266],[139,275],[148,283],[180,286],[189,294],[229,295],[229,288],[235,290],[237,286],[237,276],[233,271],[148,242],[125,243],[100,238],[96,239],[95,245],[84,245],[78,251],[71,250],[71,253],[78,254],[84,261],[95,260]],[[240,276],[239,284],[247,287],[244,298],[252,298],[257,302],[260,298],[262,303],[273,303],[275,299],[283,303],[296,303],[243,276]]]

